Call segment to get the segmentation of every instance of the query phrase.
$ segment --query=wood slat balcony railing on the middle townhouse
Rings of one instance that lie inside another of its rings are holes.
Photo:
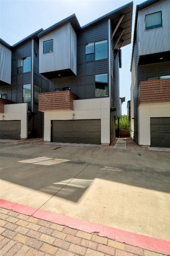
[[[39,93],[39,111],[73,110],[77,96],[71,91]]]

